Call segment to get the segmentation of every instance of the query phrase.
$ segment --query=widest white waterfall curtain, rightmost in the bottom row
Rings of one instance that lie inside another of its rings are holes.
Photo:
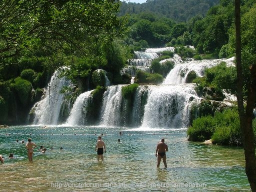
[[[199,99],[193,86],[150,86],[141,127],[186,127],[189,123],[189,102]]]

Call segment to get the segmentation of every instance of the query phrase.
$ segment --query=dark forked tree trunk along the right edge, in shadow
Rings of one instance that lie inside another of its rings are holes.
[[[244,107],[243,83],[241,59],[241,20],[240,20],[240,0],[235,0],[235,53],[236,53],[236,73],[237,73],[237,103],[240,119],[240,129],[243,136],[243,148],[245,156],[245,172],[250,184],[251,191],[256,191],[256,155],[255,155],[255,135],[252,130],[253,106],[256,98],[256,63],[251,63],[250,83],[247,88],[247,100]]]

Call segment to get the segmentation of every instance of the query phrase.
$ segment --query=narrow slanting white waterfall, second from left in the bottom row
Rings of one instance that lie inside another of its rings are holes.
[[[86,124],[86,106],[92,90],[81,93],[75,100],[70,115],[66,120],[66,125]]]

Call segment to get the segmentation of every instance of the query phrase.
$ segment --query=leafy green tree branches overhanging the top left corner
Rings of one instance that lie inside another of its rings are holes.
[[[21,52],[90,54],[93,42],[118,34],[118,7],[115,0],[1,0],[0,63]]]

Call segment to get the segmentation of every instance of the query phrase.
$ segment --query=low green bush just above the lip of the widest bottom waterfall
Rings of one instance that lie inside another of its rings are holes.
[[[144,72],[142,70],[137,70],[136,71],[136,76],[134,78],[135,83],[162,83],[163,77],[162,75],[158,73],[149,73],[149,72]]]

